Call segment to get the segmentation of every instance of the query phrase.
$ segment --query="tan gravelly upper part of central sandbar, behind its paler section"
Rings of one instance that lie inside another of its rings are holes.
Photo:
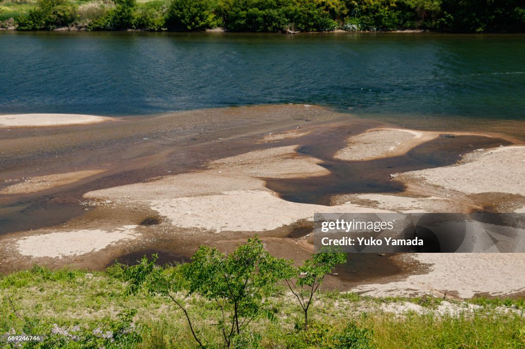
[[[266,189],[259,178],[292,178],[328,173],[318,159],[297,155],[296,146],[252,151],[208,163],[208,170],[165,176],[145,183],[88,192],[86,198],[150,201]]]

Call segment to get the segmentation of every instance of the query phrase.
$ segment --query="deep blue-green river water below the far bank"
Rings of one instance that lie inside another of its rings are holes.
[[[309,103],[525,118],[524,35],[0,32],[0,113]]]

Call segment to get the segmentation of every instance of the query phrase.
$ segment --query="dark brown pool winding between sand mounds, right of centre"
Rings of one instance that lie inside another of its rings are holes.
[[[398,193],[403,183],[392,180],[391,173],[449,166],[461,159],[461,154],[478,148],[510,145],[507,140],[481,136],[437,137],[408,151],[405,155],[367,160],[343,161],[334,159],[335,152],[345,147],[348,131],[329,130],[304,137],[298,149],[322,160],[319,165],[328,169],[326,176],[268,179],[266,187],[282,199],[320,205],[330,205],[338,194]]]

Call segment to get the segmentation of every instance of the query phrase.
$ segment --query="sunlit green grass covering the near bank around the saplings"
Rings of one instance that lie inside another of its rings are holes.
[[[114,270],[50,271],[34,267],[0,278],[0,333],[13,328],[21,333],[24,320],[20,315],[39,320],[40,328],[48,329],[54,323],[96,324],[103,319],[116,319],[123,310],[136,309],[135,321],[146,325],[139,347],[197,347],[174,304],[146,293],[128,296],[124,292],[126,285],[112,273]],[[325,292],[313,304],[308,333],[295,330],[302,320],[301,313],[284,288],[270,301],[276,309],[277,322],[259,320],[250,329],[261,336],[260,347],[264,348],[322,347],[322,341],[344,331],[349,323],[370,331],[367,333],[371,344],[377,348],[525,348],[523,299],[452,302],[457,307],[475,304],[476,309],[443,315],[434,311],[443,303],[435,298],[373,298],[351,292]],[[382,311],[383,304],[406,302],[418,304],[425,311]],[[213,304],[193,297],[187,300],[187,306],[201,336],[208,343],[220,344],[212,320],[219,314]]]

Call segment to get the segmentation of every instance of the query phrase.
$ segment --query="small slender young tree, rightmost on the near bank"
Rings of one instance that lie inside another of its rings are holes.
[[[308,310],[312,304],[313,296],[316,294],[319,286],[321,286],[324,277],[336,265],[345,262],[346,253],[341,252],[341,250],[324,248],[305,260],[302,266],[288,269],[285,280],[290,291],[299,301],[304,313],[305,331],[308,329]]]

